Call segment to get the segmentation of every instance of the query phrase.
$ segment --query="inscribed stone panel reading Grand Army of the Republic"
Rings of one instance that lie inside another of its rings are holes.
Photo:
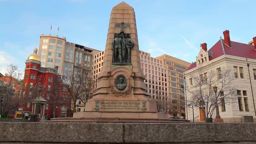
[[[99,111],[145,111],[142,101],[100,101]]]

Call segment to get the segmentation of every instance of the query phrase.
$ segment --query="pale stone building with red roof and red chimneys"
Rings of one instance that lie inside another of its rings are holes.
[[[230,75],[235,79],[231,85],[236,88],[236,100],[232,104],[225,105],[225,98],[220,102],[220,116],[224,122],[243,122],[247,116],[256,121],[256,37],[249,44],[230,40],[229,30],[223,32],[224,39],[220,37],[209,50],[207,44],[201,44],[201,49],[196,57],[196,62],[184,72],[186,90],[196,89],[194,75],[200,75],[207,79],[207,72],[214,71],[221,74],[222,69],[230,69]],[[192,79],[193,78],[193,79]],[[214,85],[213,85],[214,86]],[[220,88],[220,85],[217,85]],[[219,89],[218,89],[219,91]],[[191,121],[204,121],[201,108],[192,108],[190,105],[193,97],[187,92],[187,118]],[[223,94],[227,93],[225,91]],[[218,92],[217,92],[218,94]],[[193,111],[194,109],[194,111]],[[214,110],[215,111],[215,110]],[[194,113],[194,115],[193,115]],[[213,112],[214,119],[216,112]]]

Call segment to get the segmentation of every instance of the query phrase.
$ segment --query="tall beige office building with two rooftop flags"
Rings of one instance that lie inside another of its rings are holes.
[[[79,44],[66,41],[66,37],[41,35],[39,44],[39,56],[42,67],[55,68],[58,66],[58,73],[66,75],[68,72],[75,72],[78,68],[92,69],[92,55],[100,51],[91,49]]]

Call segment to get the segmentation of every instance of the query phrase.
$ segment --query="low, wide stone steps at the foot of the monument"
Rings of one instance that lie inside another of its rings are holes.
[[[160,112],[111,112],[111,111],[80,111],[73,118],[51,118],[49,122],[189,122],[189,120],[169,118]]]

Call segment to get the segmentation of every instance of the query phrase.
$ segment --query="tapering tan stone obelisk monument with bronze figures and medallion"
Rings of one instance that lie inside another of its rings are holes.
[[[167,118],[145,92],[134,9],[125,2],[112,8],[97,92],[74,118]]]

